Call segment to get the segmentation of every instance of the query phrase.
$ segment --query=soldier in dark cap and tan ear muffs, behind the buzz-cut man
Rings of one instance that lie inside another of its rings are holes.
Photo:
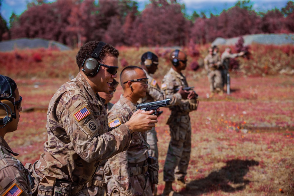
[[[182,88],[180,90],[173,94],[166,96],[163,91],[161,91],[158,82],[156,79],[153,78],[153,74],[158,69],[158,57],[148,51],[145,52],[141,57],[141,67],[143,68],[144,72],[146,73],[146,76],[148,79],[148,88],[147,93],[144,98],[139,99],[139,103],[148,103],[152,101],[158,101],[158,100],[164,100],[166,98],[170,98],[170,105],[178,105],[181,103],[182,95],[184,97],[188,96],[188,92],[183,91]],[[152,157],[155,157],[158,159],[158,147],[157,147],[157,134],[155,128],[152,128],[151,130],[147,131],[147,143],[150,145],[150,150],[148,150],[148,154]],[[156,195],[157,188],[155,187],[155,192],[153,192],[153,195]]]

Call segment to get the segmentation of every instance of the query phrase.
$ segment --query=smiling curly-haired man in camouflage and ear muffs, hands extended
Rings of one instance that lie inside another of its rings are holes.
[[[97,92],[108,92],[116,78],[118,50],[91,41],[76,55],[79,73],[63,84],[48,107],[48,141],[34,164],[41,179],[38,195],[87,195],[86,188],[99,161],[126,150],[134,131],[150,130],[157,123],[153,111],[139,110],[120,127],[108,129],[104,101]]]

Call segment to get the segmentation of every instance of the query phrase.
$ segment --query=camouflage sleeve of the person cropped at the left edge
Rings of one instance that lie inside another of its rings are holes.
[[[15,158],[8,157],[10,160],[2,159],[0,165],[3,161],[7,161],[3,169],[0,170],[0,186],[4,189],[0,189],[0,195],[4,195],[7,191],[22,191],[22,195],[32,196],[31,185],[29,183],[27,174],[25,172],[24,166],[19,160]],[[14,163],[11,163],[11,162]],[[1,188],[0,187],[0,188]]]

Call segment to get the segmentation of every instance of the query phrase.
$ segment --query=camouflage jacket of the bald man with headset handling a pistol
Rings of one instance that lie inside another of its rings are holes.
[[[186,81],[186,77],[182,73],[178,73],[173,68],[171,68],[166,75],[163,77],[161,90],[166,94],[166,96],[170,96],[176,93],[176,88],[180,86],[188,87],[188,83]],[[191,110],[189,109],[189,101],[181,100],[181,103],[178,105],[174,105],[169,107],[171,110],[171,116],[178,116],[183,113],[188,114]]]

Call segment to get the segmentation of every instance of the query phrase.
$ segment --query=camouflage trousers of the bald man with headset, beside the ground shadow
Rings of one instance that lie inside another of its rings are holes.
[[[184,179],[191,154],[191,122],[188,114],[168,119],[171,141],[163,168],[163,180]]]

